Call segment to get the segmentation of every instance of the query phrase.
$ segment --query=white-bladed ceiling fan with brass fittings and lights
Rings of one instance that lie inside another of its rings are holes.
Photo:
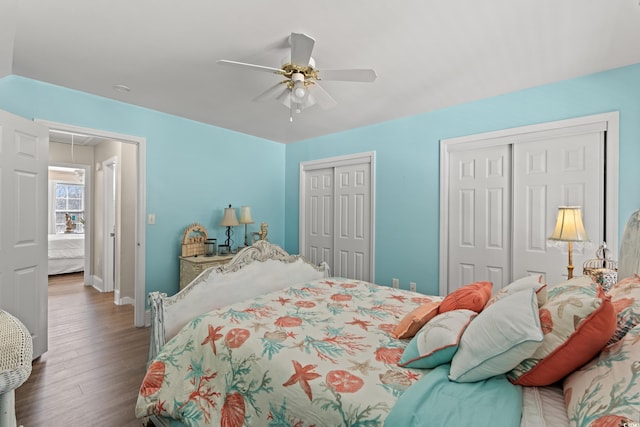
[[[293,113],[300,113],[305,108],[318,104],[323,109],[336,105],[336,101],[318,83],[320,80],[338,80],[350,82],[373,82],[376,72],[371,69],[349,70],[318,70],[311,57],[315,40],[302,33],[291,33],[289,45],[290,58],[287,58],[281,68],[263,65],[247,64],[245,62],[221,59],[218,64],[233,67],[250,68],[266,71],[285,77],[257,97],[254,101],[275,99],[289,108],[289,120],[293,121]]]

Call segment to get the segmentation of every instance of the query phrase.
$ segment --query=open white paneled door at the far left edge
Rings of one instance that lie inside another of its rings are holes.
[[[0,308],[47,351],[49,129],[0,111]]]

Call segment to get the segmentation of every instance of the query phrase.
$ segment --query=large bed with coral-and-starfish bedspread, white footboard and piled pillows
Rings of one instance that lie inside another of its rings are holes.
[[[136,415],[156,426],[640,422],[640,277],[607,296],[589,277],[487,283],[427,296],[331,277],[259,241],[172,297],[150,294]],[[553,348],[556,333],[569,337]]]

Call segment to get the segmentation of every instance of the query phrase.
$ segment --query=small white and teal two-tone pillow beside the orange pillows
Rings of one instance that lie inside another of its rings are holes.
[[[398,365],[431,369],[451,362],[462,333],[474,317],[475,312],[464,309],[438,314],[409,342]]]

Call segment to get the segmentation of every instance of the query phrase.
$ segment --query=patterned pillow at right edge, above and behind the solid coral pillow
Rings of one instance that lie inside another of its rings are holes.
[[[634,274],[616,283],[610,290],[611,302],[616,309],[618,327],[607,344],[613,344],[640,324],[640,276]]]

